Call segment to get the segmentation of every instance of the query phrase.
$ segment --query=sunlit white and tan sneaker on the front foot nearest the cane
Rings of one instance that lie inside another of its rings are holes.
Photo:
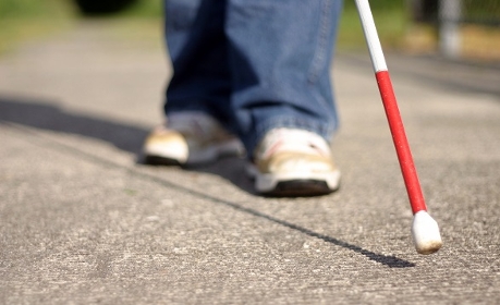
[[[337,191],[340,171],[319,135],[276,129],[257,146],[249,173],[257,192],[270,196],[315,196]]]

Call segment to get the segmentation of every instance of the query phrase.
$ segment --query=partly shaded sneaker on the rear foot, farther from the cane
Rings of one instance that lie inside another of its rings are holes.
[[[222,156],[244,154],[242,143],[214,118],[199,112],[169,115],[146,138],[143,152],[148,164],[193,166]]]

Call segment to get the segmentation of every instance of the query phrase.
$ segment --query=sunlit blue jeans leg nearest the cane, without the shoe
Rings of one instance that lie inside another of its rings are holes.
[[[276,127],[327,141],[338,126],[330,64],[341,0],[228,0],[232,110],[249,154]]]

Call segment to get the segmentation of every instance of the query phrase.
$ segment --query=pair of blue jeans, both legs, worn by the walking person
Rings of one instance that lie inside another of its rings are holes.
[[[342,0],[166,0],[173,76],[166,114],[202,111],[240,136],[252,157],[275,127],[330,141],[330,78]]]

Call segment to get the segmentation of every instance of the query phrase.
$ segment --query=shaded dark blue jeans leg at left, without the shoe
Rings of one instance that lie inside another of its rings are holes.
[[[199,111],[232,126],[231,78],[223,32],[225,1],[166,0],[166,37],[173,66],[166,114]]]

